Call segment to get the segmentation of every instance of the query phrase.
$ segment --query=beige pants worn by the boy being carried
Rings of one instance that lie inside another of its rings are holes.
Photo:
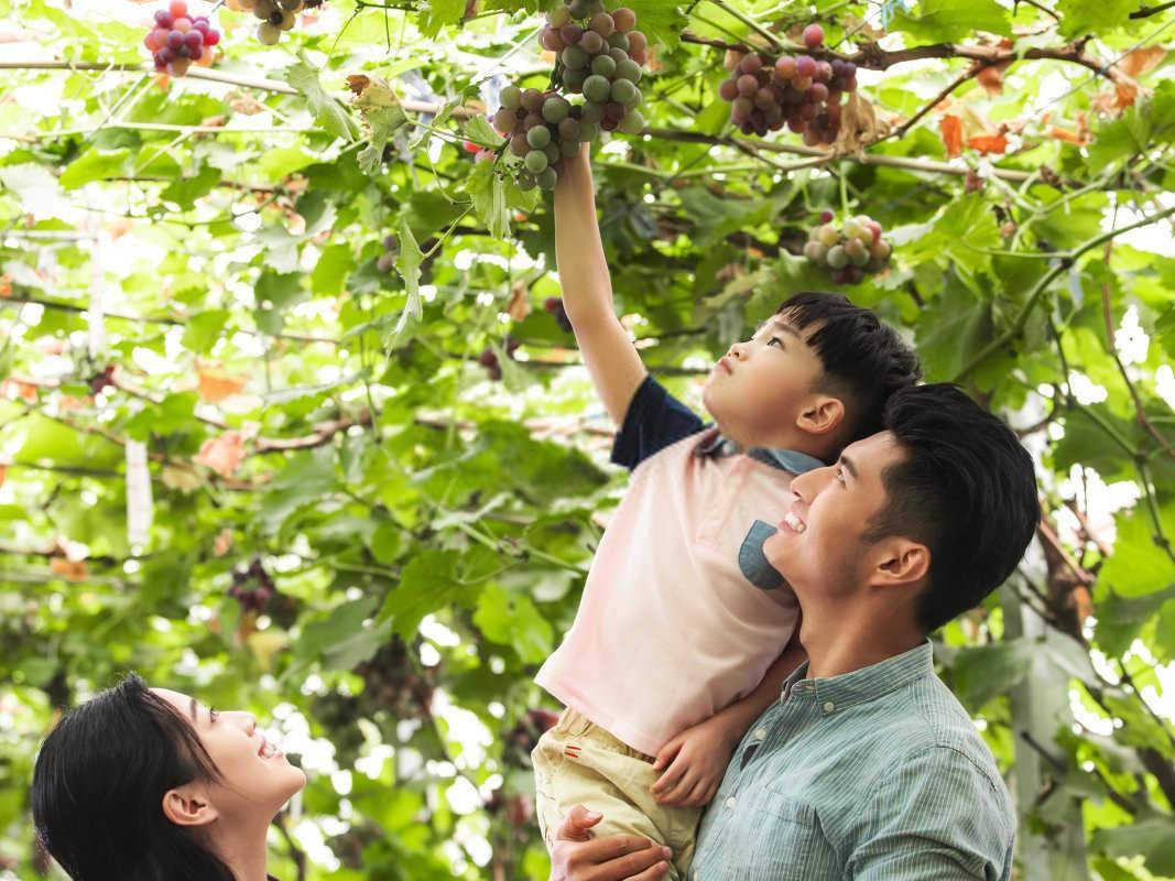
[[[700,807],[658,805],[650,792],[659,774],[653,758],[617,740],[575,709],[564,709],[558,724],[539,738],[535,764],[535,813],[550,849],[563,818],[573,805],[598,811],[604,819],[595,836],[644,835],[673,852],[666,875],[685,876],[693,859]]]

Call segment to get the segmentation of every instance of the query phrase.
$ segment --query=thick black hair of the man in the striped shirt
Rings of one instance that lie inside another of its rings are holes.
[[[1032,457],[999,417],[958,386],[902,389],[885,408],[902,452],[881,473],[886,505],[864,536],[906,536],[931,551],[915,614],[926,633],[979,605],[1012,574],[1040,520]]]

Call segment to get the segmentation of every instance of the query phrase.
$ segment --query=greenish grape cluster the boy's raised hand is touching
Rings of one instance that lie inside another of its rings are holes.
[[[552,189],[564,159],[579,153],[579,144],[603,132],[639,134],[645,120],[637,109],[642,94],[637,83],[649,49],[626,7],[611,13],[599,0],[571,0],[546,16],[539,34],[544,48],[558,53],[556,67],[562,92],[502,90],[502,106],[494,126],[510,139],[510,153],[522,160],[522,189]],[[580,95],[572,102],[569,95]]]

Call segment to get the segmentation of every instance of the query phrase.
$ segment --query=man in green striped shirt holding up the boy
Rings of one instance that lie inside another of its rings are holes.
[[[808,663],[734,752],[689,877],[1005,881],[1015,813],[927,634],[1019,563],[1040,517],[1030,457],[955,386],[921,385],[792,492],[764,553],[799,599]],[[599,820],[569,813],[552,879],[664,875],[665,848],[592,839]]]

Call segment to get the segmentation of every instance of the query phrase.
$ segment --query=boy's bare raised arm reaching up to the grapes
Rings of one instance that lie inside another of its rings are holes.
[[[564,163],[555,187],[555,254],[563,307],[604,408],[624,424],[632,396],[647,371],[616,316],[612,280],[596,222],[588,150]]]

